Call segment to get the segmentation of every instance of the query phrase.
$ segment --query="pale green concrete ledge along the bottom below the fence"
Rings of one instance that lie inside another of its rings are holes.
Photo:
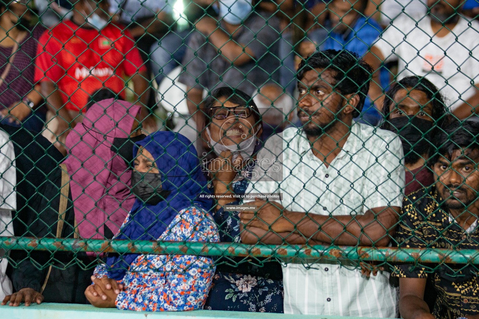
[[[240,311],[215,311],[215,310],[194,310],[194,311],[130,311],[118,310],[116,308],[94,308],[91,305],[76,304],[54,304],[43,303],[32,304],[29,307],[0,306],[0,319],[339,319],[355,317],[336,316],[313,316],[313,315],[285,315],[278,313],[240,312]]]

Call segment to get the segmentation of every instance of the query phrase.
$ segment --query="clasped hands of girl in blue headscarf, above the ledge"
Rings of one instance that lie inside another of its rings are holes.
[[[87,297],[88,301],[98,308],[115,307],[116,296],[123,289],[123,285],[108,277],[100,279],[96,276],[91,276],[91,281],[93,285],[88,286],[85,290],[85,297]]]

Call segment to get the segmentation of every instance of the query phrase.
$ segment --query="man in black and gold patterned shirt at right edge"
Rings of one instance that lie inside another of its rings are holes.
[[[436,138],[430,164],[437,181],[404,198],[396,241],[399,247],[479,249],[479,123],[453,123]],[[393,275],[402,318],[479,318],[478,266],[396,264]],[[432,313],[423,300],[428,276],[437,292]]]

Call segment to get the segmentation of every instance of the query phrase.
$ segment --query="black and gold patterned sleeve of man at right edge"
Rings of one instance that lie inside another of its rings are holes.
[[[414,197],[412,193],[410,198]],[[421,224],[424,223],[424,216],[416,208],[416,203],[412,203],[410,198],[404,197],[400,222],[396,231],[395,239],[399,248],[424,248],[426,242],[422,237]],[[424,198],[423,200],[426,200]],[[408,278],[427,278],[426,267],[418,264],[394,264],[391,275],[396,277]]]

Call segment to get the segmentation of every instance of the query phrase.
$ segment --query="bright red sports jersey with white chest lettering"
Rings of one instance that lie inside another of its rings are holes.
[[[57,83],[68,110],[81,110],[92,93],[109,88],[125,98],[125,77],[146,71],[133,37],[108,23],[101,31],[71,21],[40,37],[35,81]]]

